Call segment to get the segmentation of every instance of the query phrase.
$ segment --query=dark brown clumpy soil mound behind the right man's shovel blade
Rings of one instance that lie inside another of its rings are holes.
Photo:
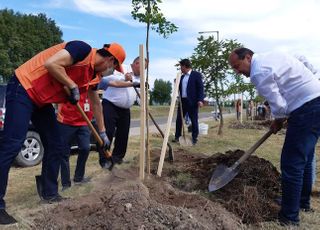
[[[165,174],[179,189],[205,193],[210,200],[219,202],[236,214],[243,223],[276,219],[280,208],[275,202],[281,191],[280,173],[270,162],[257,156],[243,162],[239,174],[229,184],[208,193],[208,184],[217,165],[230,167],[242,154],[243,151],[236,150],[203,157],[181,151],[175,154],[174,167],[166,170]]]

